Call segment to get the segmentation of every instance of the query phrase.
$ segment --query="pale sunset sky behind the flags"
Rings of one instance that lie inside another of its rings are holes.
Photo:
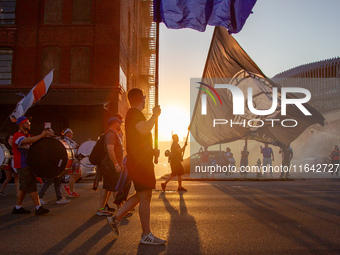
[[[271,78],[287,69],[340,56],[339,0],[257,0],[243,29],[233,34]],[[190,123],[190,78],[200,78],[214,28],[205,32],[160,24],[159,141]]]

